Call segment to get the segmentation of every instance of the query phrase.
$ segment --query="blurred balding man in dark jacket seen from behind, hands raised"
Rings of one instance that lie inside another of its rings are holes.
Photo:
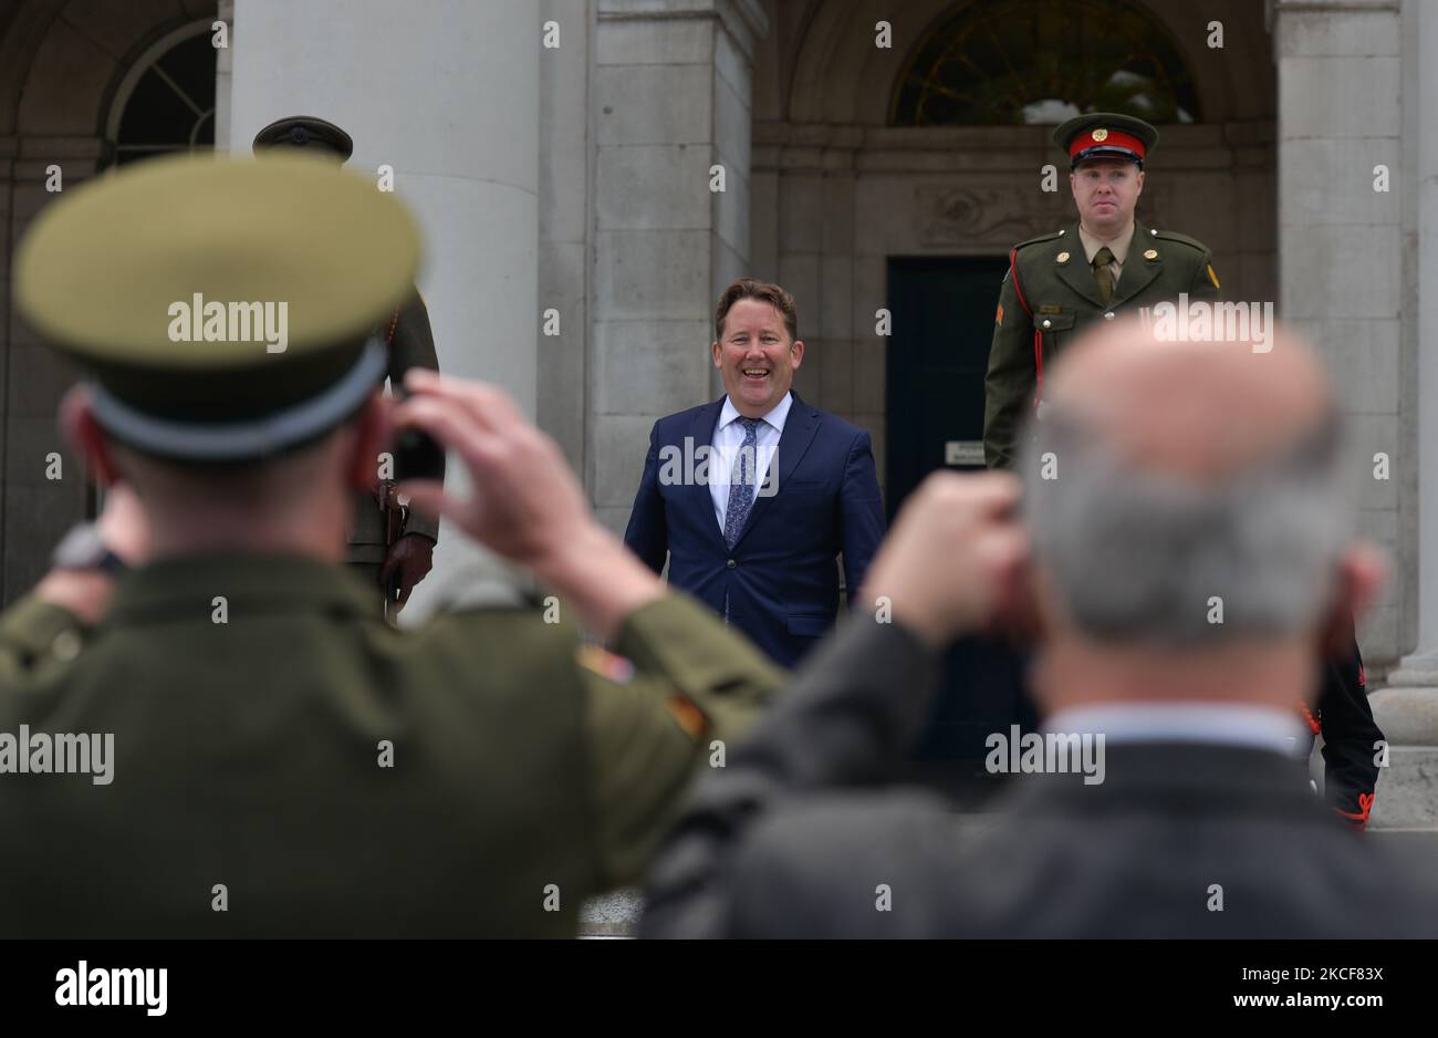
[[[864,587],[893,623],[856,614],[706,776],[643,933],[1438,933],[1435,870],[1356,840],[1296,758],[1316,650],[1349,634],[1382,572],[1350,533],[1313,355],[1286,335],[1268,355],[1156,348],[1114,322],[1050,394],[1022,515],[1008,473],[920,487]],[[1024,614],[1045,730],[1022,752],[997,733],[991,766],[1041,773],[968,837],[884,775],[942,646]]]

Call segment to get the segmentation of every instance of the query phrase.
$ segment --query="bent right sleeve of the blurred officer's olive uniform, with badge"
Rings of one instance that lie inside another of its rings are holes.
[[[637,881],[679,818],[715,740],[743,733],[787,674],[682,594],[637,610],[620,633],[633,676],[581,669],[587,686],[597,871]]]

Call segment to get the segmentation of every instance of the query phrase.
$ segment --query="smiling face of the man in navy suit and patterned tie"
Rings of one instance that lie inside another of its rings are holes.
[[[729,400],[746,418],[772,411],[804,361],[804,341],[789,339],[784,315],[762,299],[735,302],[723,319],[723,338],[709,349]]]

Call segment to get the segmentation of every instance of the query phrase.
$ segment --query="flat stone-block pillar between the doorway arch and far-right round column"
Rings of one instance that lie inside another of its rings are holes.
[[[1360,630],[1365,656],[1379,667],[1415,637],[1416,543],[1399,535],[1401,525],[1414,528],[1416,431],[1415,380],[1401,374],[1414,367],[1415,344],[1402,154],[1414,109],[1399,104],[1401,39],[1396,0],[1276,4],[1280,315],[1309,335],[1333,372],[1362,531],[1398,562]],[[1386,193],[1373,190],[1380,164],[1392,178]],[[1372,477],[1376,453],[1391,459],[1391,479]]]

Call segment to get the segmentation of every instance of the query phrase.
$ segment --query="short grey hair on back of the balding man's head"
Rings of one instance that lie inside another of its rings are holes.
[[[1330,413],[1280,456],[1198,483],[1125,461],[1050,405],[1020,453],[1035,564],[1097,641],[1192,648],[1300,634],[1327,605],[1353,532],[1337,454]]]

